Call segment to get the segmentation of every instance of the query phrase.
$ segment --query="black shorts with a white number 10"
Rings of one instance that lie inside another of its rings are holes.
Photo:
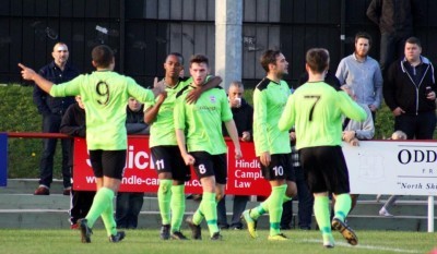
[[[295,173],[292,162],[292,154],[274,154],[270,157],[271,161],[268,167],[260,162],[262,177],[268,181],[285,179],[294,182]]]

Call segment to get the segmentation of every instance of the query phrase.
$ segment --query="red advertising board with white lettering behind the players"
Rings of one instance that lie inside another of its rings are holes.
[[[243,159],[235,159],[234,146],[226,141],[227,186],[226,194],[261,195],[270,194],[270,184],[262,178],[259,161],[255,156],[253,143],[240,143]],[[74,138],[73,186],[75,190],[95,190],[95,178],[91,168],[86,142]],[[186,193],[202,193],[193,170],[186,183]],[[127,161],[120,192],[157,192],[158,179],[149,149],[149,136],[129,136]]]

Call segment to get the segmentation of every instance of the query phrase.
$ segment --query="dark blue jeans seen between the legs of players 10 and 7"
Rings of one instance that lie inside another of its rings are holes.
[[[298,227],[300,229],[311,228],[314,197],[309,192],[305,173],[302,167],[294,167],[296,176],[297,197],[299,201],[297,217],[299,219]],[[293,201],[283,204],[283,213],[281,218],[281,228],[290,229],[293,219]]]

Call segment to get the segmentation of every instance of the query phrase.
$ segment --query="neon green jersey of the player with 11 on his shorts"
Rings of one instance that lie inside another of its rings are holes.
[[[167,86],[167,97],[160,107],[160,111],[156,114],[155,121],[150,128],[150,141],[149,147],[162,146],[162,145],[177,145],[176,133],[175,133],[175,118],[173,111],[175,109],[176,95],[187,85],[191,84],[192,78],[179,78],[179,82],[174,87]],[[155,101],[144,104],[144,108],[153,107]]]

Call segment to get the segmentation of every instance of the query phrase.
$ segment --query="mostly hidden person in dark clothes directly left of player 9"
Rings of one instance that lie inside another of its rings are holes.
[[[81,100],[81,96],[76,96],[76,104],[71,105],[66,113],[63,114],[60,132],[69,136],[85,137],[86,125],[85,125],[85,106]],[[73,177],[74,170],[81,170],[73,168],[73,142],[71,142],[69,167],[71,169],[71,177]],[[94,191],[75,191],[71,190],[71,202],[70,202],[70,222],[71,229],[76,229],[78,219],[85,218],[91,205],[93,204],[95,192]]]

